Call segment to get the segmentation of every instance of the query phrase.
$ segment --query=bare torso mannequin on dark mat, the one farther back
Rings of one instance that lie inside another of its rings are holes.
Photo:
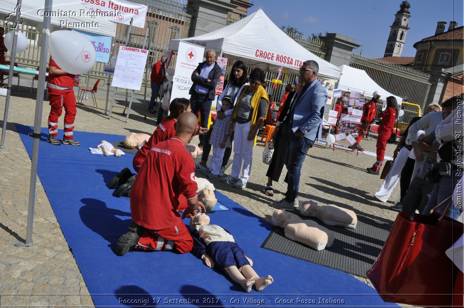
[[[326,225],[354,229],[358,223],[358,218],[353,211],[333,204],[317,205],[314,201],[304,201],[300,212],[303,216],[317,217]]]

